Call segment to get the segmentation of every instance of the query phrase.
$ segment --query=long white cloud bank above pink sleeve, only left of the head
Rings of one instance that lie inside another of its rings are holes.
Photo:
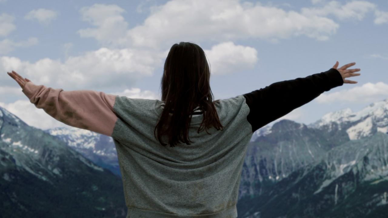
[[[152,76],[164,54],[137,49],[100,48],[66,61],[44,58],[30,63],[16,57],[0,57],[0,72],[14,70],[35,84],[54,88],[125,88],[139,78]],[[0,85],[7,83],[0,74]],[[9,77],[9,76],[8,76]],[[8,79],[8,78],[7,78]],[[65,87],[66,86],[66,87]]]

